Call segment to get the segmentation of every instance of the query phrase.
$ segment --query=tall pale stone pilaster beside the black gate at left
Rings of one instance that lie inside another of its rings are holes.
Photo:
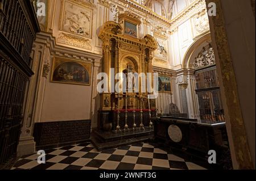
[[[50,52],[46,45],[34,43],[32,48],[34,75],[27,86],[27,96],[24,103],[24,119],[21,129],[20,141],[18,145],[18,155],[27,155],[35,152],[35,141],[33,137],[33,127],[36,120],[40,120],[41,100],[43,99],[44,82],[49,72]],[[40,83],[42,82],[42,83]],[[38,99],[40,98],[40,99]]]

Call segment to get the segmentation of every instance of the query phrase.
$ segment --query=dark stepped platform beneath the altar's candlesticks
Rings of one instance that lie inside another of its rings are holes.
[[[117,148],[118,146],[130,145],[135,142],[143,142],[154,137],[154,129],[145,127],[144,130],[137,128],[135,131],[93,131],[92,144],[99,150]]]

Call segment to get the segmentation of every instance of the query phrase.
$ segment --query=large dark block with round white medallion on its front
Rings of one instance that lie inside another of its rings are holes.
[[[153,119],[153,122],[155,141],[162,142],[175,155],[208,169],[232,169],[225,123],[204,124],[175,117],[161,117]],[[168,135],[170,125],[180,128],[180,142],[174,142]],[[209,150],[216,151],[216,164],[208,163]]]

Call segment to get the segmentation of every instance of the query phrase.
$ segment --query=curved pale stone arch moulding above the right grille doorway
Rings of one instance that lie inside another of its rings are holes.
[[[182,68],[193,69],[193,61],[195,60],[195,57],[199,54],[201,49],[211,41],[210,32],[195,40],[185,53]]]

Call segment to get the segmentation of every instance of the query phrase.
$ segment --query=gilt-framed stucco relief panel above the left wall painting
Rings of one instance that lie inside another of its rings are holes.
[[[64,0],[57,43],[92,50],[92,16],[90,5]]]

